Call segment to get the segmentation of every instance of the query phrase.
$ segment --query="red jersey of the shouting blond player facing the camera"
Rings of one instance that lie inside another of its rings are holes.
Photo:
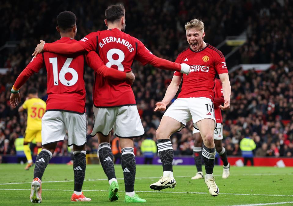
[[[175,62],[186,63],[190,67],[190,74],[183,75],[178,98],[207,97],[213,101],[215,76],[228,73],[222,52],[209,44],[196,52],[189,47],[178,55]],[[182,76],[182,73],[174,72],[174,75]]]

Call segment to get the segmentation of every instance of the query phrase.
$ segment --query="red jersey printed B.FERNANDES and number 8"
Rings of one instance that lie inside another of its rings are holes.
[[[124,72],[131,71],[134,60],[145,65],[154,58],[141,41],[116,28],[92,32],[79,43],[86,51],[96,51],[107,67]],[[93,104],[95,107],[119,107],[136,105],[136,102],[128,83],[95,75]]]

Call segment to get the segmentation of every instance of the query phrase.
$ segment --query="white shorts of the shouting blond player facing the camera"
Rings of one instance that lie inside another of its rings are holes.
[[[163,116],[168,116],[181,122],[182,127],[178,130],[180,131],[191,119],[193,121],[193,127],[197,129],[196,122],[206,118],[214,120],[216,126],[214,114],[214,104],[211,99],[206,97],[191,97],[176,99]]]

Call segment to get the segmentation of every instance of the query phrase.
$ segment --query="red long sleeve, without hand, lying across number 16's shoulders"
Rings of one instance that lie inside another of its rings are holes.
[[[78,42],[73,44],[66,44],[66,43],[46,43],[44,45],[44,51],[46,52],[55,52],[59,54],[73,54],[77,52],[84,52],[86,51],[82,45]]]

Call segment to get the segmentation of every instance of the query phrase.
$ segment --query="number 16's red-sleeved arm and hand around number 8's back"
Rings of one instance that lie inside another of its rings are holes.
[[[109,78],[113,80],[126,80],[131,85],[134,82],[135,76],[132,72],[125,73],[113,68],[106,67],[102,62],[99,55],[96,52],[90,51],[86,54],[87,64],[97,72],[97,74],[102,75],[104,78]]]

